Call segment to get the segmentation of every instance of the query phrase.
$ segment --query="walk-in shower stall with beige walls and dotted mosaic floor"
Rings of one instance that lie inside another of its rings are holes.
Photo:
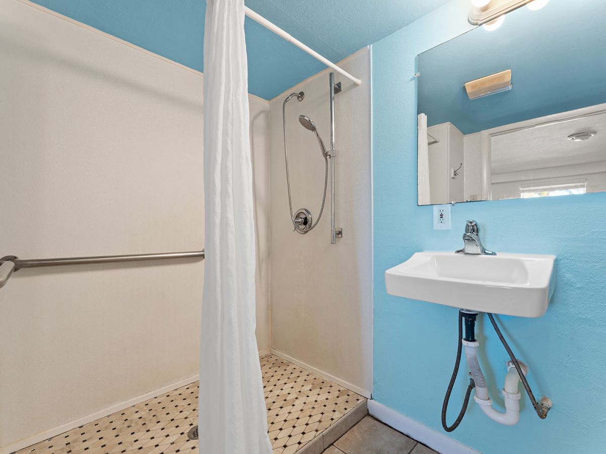
[[[0,11],[0,451],[138,450],[151,431],[195,447],[204,74],[27,0]],[[333,66],[248,96],[256,340],[280,453],[355,423],[372,386],[370,50]],[[278,441],[278,413],[310,406],[322,421]]]

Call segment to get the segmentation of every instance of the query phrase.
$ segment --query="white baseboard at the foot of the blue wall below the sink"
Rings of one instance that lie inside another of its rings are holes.
[[[390,409],[390,407],[384,406],[376,400],[368,401],[368,413],[376,419],[379,419],[379,421],[382,421],[388,426],[399,430],[399,432],[410,436],[410,438],[416,439],[416,441],[420,441],[422,444],[425,444],[440,453],[482,454],[480,451],[466,446],[461,442],[456,441],[456,439],[450,438],[450,436],[444,435],[444,433],[440,433],[437,430],[433,430],[414,419],[408,418],[408,416],[404,416],[402,413],[398,413],[396,410]]]

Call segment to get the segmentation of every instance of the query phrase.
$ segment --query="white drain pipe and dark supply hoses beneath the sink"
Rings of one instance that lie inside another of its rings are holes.
[[[511,348],[505,341],[501,330],[494,321],[494,317],[492,314],[488,314],[490,321],[494,327],[494,331],[499,336],[499,340],[501,340],[505,350],[509,354],[511,361],[507,363],[507,375],[505,376],[505,386],[502,390],[503,396],[505,398],[505,412],[501,413],[498,410],[494,409],[492,406],[492,400],[490,399],[490,395],[488,395],[488,386],[486,384],[486,380],[484,378],[484,373],[482,373],[482,369],[480,367],[478,361],[478,346],[479,343],[475,338],[475,322],[478,317],[478,312],[467,311],[465,309],[461,309],[459,311],[459,347],[457,351],[456,363],[454,365],[453,375],[450,378],[450,383],[448,384],[448,389],[446,395],[444,397],[444,404],[442,405],[442,427],[447,432],[452,432],[456,429],[461,423],[463,416],[465,414],[465,410],[467,409],[467,403],[469,401],[469,396],[473,387],[476,388],[476,395],[474,396],[474,401],[478,403],[479,407],[482,409],[482,412],[485,413],[490,419],[496,421],[500,424],[505,424],[506,426],[513,426],[519,421],[519,412],[520,412],[520,400],[522,398],[521,393],[518,390],[518,384],[520,381],[524,384],[524,388],[533,403],[534,409],[536,410],[537,415],[541,419],[545,419],[547,417],[547,412],[551,409],[551,400],[545,396],[541,398],[541,401],[537,402],[534,398],[533,392],[528,385],[528,381],[526,380],[525,375],[528,373],[528,366],[522,363],[522,361],[518,361],[511,351]],[[462,337],[462,321],[465,320],[465,337]],[[450,394],[452,392],[452,388],[454,385],[454,381],[456,380],[456,376],[459,372],[459,364],[461,362],[461,350],[462,347],[465,347],[465,358],[467,358],[467,366],[470,370],[471,380],[470,384],[467,387],[467,392],[465,393],[465,399],[463,406],[461,408],[461,412],[459,413],[458,418],[454,421],[452,426],[448,426],[446,423],[446,410],[448,407],[448,401],[450,400]]]

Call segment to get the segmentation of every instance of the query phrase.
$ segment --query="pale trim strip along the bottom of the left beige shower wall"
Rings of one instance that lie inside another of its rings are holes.
[[[199,377],[199,375],[194,375],[193,377],[185,378],[185,380],[181,380],[176,383],[163,386],[160,389],[156,389],[148,393],[133,397],[132,399],[112,405],[111,407],[107,407],[99,412],[95,412],[90,415],[84,416],[83,418],[71,421],[70,423],[62,424],[62,426],[53,427],[53,429],[44,430],[43,432],[36,433],[36,435],[28,436],[27,438],[22,438],[18,441],[14,441],[10,444],[7,444],[7,446],[0,447],[0,453],[12,453],[18,451],[19,449],[27,448],[28,446],[32,446],[32,444],[44,441],[45,439],[51,438],[52,436],[59,435],[60,433],[67,432],[68,430],[75,429],[76,427],[82,426],[84,424],[88,424],[92,421],[95,421],[96,419],[104,418],[105,416],[111,415],[112,413],[115,413],[118,410],[132,407],[133,405],[139,404],[148,399],[153,399],[155,397],[158,397],[159,395],[193,383],[197,381]]]

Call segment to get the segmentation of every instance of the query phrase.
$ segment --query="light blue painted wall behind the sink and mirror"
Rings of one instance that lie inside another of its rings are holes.
[[[565,3],[570,6],[565,0],[550,5]],[[456,354],[457,310],[387,295],[384,272],[416,251],[459,248],[465,220],[476,219],[490,249],[558,256],[547,314],[498,317],[514,352],[530,366],[534,392],[550,396],[554,407],[541,421],[524,397],[519,424],[505,427],[470,404],[449,436],[489,454],[603,453],[606,194],[461,203],[452,208],[451,231],[433,231],[432,207],[417,206],[416,55],[467,31],[468,5],[455,0],[373,45],[373,398],[444,433],[440,414]],[[502,410],[507,353],[484,317],[478,332],[491,397]],[[467,384],[466,366],[461,369],[450,422]]]

